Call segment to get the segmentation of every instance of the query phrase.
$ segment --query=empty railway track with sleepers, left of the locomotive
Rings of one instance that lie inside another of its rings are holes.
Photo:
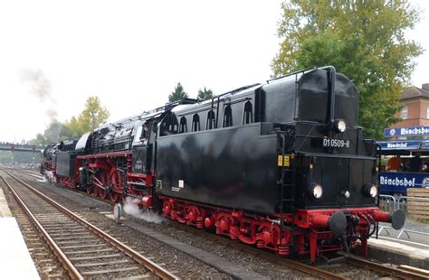
[[[3,172],[19,182],[12,186],[2,177],[71,278],[177,278],[13,174]]]

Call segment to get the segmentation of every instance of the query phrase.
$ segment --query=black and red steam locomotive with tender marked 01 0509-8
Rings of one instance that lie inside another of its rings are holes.
[[[376,143],[333,67],[170,103],[74,144],[54,155],[57,182],[281,256],[314,260],[358,239],[367,256],[378,221],[405,222],[377,208]]]

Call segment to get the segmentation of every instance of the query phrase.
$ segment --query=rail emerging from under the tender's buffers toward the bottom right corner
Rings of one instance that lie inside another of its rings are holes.
[[[360,267],[367,268],[377,272],[383,272],[388,275],[396,276],[399,278],[404,278],[404,279],[427,279],[428,278],[427,275],[424,275],[423,273],[417,273],[417,271],[411,272],[409,270],[405,271],[404,269],[383,266],[377,263],[367,261],[365,259],[352,257],[348,255],[345,255],[345,257],[346,257],[347,263],[350,265],[360,266]]]

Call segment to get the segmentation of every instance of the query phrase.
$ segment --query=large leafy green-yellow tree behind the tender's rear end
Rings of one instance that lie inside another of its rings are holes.
[[[281,5],[281,49],[273,76],[333,65],[357,85],[359,122],[367,136],[382,137],[397,121],[401,90],[422,53],[404,31],[419,21],[407,1],[300,1]]]

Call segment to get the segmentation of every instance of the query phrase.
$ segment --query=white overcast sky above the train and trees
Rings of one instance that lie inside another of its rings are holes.
[[[407,36],[429,50],[429,1],[412,3],[426,11]],[[0,1],[0,141],[30,140],[94,95],[115,121],[162,106],[177,82],[195,98],[269,79],[280,19],[281,0]],[[416,62],[421,87],[428,51]]]

